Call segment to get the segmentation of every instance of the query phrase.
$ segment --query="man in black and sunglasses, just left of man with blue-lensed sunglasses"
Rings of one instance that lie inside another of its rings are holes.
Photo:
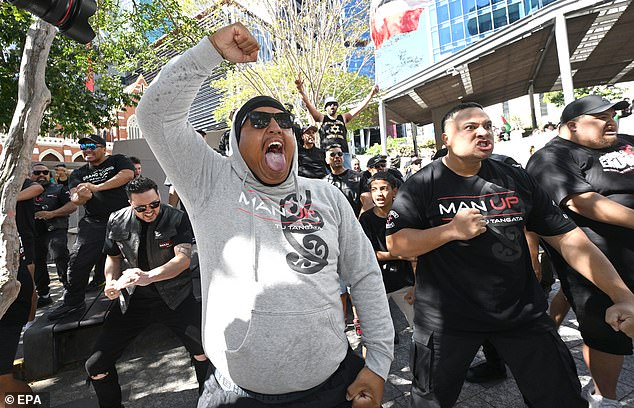
[[[35,198],[35,288],[37,307],[53,303],[50,296],[46,261],[51,254],[57,276],[66,287],[68,269],[68,216],[77,206],[70,201],[70,191],[63,184],[51,183],[48,167],[35,163],[31,167],[31,180],[44,187],[44,192]]]

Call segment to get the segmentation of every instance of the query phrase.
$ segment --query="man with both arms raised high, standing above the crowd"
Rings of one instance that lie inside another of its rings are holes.
[[[378,85],[374,85],[370,93],[368,93],[355,108],[343,114],[337,114],[339,102],[332,96],[326,98],[324,101],[324,110],[326,113],[323,114],[319,112],[304,91],[304,81],[301,75],[295,80],[295,85],[310,115],[315,122],[321,123],[321,127],[319,128],[319,135],[321,136],[320,147],[325,150],[328,149],[328,146],[331,144],[338,144],[344,153],[344,167],[347,169],[352,168],[352,157],[348,149],[348,130],[346,129],[346,124],[368,106],[372,97],[379,91]]]

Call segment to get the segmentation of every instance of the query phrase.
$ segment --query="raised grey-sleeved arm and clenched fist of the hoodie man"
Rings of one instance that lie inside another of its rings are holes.
[[[221,162],[187,117],[205,79],[224,59],[244,63],[257,59],[259,46],[240,23],[223,27],[167,63],[147,88],[137,117],[143,137],[181,198],[200,198],[191,180],[213,174]]]

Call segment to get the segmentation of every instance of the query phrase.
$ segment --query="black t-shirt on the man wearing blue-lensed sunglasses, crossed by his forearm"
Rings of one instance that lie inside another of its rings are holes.
[[[99,166],[86,164],[73,171],[70,175],[68,187],[73,189],[80,183],[101,184],[113,178],[121,170],[134,171],[134,165],[122,154],[108,156]],[[128,197],[125,193],[125,185],[105,191],[93,193],[86,202],[86,218],[99,222],[107,222],[110,213],[120,210],[128,205]]]

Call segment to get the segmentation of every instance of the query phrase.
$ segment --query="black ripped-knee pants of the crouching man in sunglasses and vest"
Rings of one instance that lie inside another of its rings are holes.
[[[154,323],[164,324],[181,339],[189,354],[202,355],[205,352],[201,341],[201,321],[201,305],[191,295],[176,310],[167,307],[161,298],[135,298],[132,295],[128,310],[122,314],[117,302],[106,317],[93,354],[86,361],[88,375],[108,373],[104,379],[92,381],[99,406],[121,406],[121,387],[115,363],[143,330]]]

